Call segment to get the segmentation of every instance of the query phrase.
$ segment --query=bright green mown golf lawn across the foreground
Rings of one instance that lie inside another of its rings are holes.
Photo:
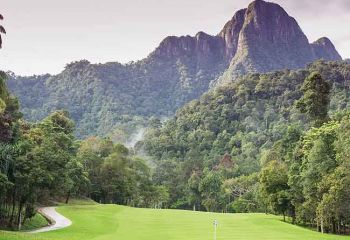
[[[116,205],[73,205],[58,211],[73,225],[53,232],[14,235],[4,240],[211,240],[213,221],[219,221],[217,240],[350,240],[322,235],[265,214],[215,214],[179,210],[137,209]]]

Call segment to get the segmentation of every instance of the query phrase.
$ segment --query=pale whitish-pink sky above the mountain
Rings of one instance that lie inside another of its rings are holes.
[[[215,35],[248,0],[1,0],[0,69],[61,72],[67,63],[141,60],[169,35]],[[327,36],[350,57],[350,0],[274,0],[310,42]]]

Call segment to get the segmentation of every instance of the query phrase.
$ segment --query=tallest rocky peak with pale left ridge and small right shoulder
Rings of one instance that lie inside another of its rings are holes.
[[[328,38],[310,44],[297,21],[281,6],[256,0],[245,10],[237,50],[223,78],[298,69],[318,59],[342,58]]]

